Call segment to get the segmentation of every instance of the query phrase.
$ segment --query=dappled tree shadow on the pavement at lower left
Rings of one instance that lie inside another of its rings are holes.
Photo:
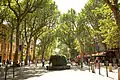
[[[45,70],[45,68],[35,68],[35,67],[20,67],[15,69],[15,75],[13,79],[13,72],[12,69],[8,70],[7,80],[24,80],[30,77],[39,77],[44,73],[49,71]],[[4,76],[0,78],[0,80],[5,80]]]

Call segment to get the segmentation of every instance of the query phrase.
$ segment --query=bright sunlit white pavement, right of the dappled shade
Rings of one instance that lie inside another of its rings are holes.
[[[117,70],[109,72],[108,75],[109,77],[106,76],[105,68],[101,68],[101,75],[99,75],[98,69],[95,69],[95,73],[92,73],[88,71],[87,66],[83,69],[80,69],[79,66],[73,66],[70,70],[52,71],[45,73],[42,76],[25,80],[118,80]]]

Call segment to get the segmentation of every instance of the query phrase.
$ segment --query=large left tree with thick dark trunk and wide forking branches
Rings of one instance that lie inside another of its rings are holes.
[[[28,13],[33,13],[38,7],[42,8],[45,3],[46,0],[6,0],[5,5],[13,12],[16,19],[16,50],[14,55],[16,64],[18,60],[20,24]]]

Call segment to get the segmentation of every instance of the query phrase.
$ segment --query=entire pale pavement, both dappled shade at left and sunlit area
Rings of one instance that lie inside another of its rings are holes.
[[[41,65],[38,65],[38,67],[31,65],[16,68],[14,79],[12,69],[8,70],[7,75],[7,80],[118,80],[117,78],[117,70],[109,72],[109,77],[106,77],[105,68],[101,68],[101,75],[99,75],[98,69],[95,70],[95,73],[92,73],[88,71],[87,66],[83,69],[80,69],[79,66],[72,66],[70,70],[47,71]],[[4,80],[4,76],[1,76],[0,80]]]

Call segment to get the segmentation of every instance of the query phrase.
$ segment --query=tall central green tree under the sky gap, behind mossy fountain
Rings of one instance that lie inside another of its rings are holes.
[[[60,25],[57,29],[57,37],[58,40],[62,44],[66,44],[69,48],[69,52],[71,54],[71,57],[74,58],[76,55],[78,55],[78,51],[76,48],[75,43],[75,28],[76,28],[76,12],[74,9],[68,10],[67,13],[62,14],[60,17]],[[58,32],[59,31],[59,32]]]

